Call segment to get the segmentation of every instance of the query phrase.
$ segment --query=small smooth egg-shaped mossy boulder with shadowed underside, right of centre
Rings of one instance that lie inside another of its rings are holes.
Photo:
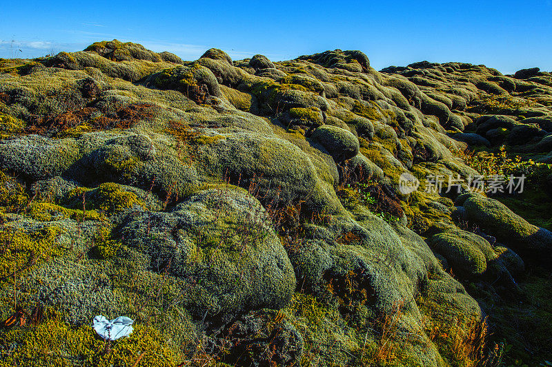
[[[358,154],[360,145],[353,133],[341,127],[324,125],[315,130],[311,136],[317,140],[336,161],[347,160]]]

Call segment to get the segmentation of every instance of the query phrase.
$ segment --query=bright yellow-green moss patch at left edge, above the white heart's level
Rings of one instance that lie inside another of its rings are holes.
[[[0,282],[9,282],[14,272],[20,276],[32,266],[61,255],[63,249],[56,243],[60,231],[57,227],[44,227],[33,233],[10,227],[0,229]]]

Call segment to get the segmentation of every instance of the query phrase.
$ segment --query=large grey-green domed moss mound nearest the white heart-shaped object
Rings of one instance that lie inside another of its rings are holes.
[[[169,213],[132,212],[124,222],[124,244],[146,253],[152,270],[184,280],[199,317],[280,308],[295,289],[266,211],[242,190],[199,191]]]

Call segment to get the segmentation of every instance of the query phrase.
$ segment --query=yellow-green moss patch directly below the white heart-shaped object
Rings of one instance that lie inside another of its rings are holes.
[[[105,342],[90,326],[74,327],[61,319],[39,326],[14,328],[1,344],[17,349],[0,361],[8,366],[154,366],[173,367],[181,360],[161,333],[151,326],[134,325],[129,337]]]

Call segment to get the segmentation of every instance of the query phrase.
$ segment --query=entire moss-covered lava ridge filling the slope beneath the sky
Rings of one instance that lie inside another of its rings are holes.
[[[377,72],[342,50],[184,62],[117,40],[1,61],[0,301],[16,321],[0,353],[46,366],[490,361],[494,344],[477,344],[489,308],[464,285],[523,297],[523,269],[552,253],[531,237],[546,230],[493,198],[398,184],[476,175],[463,151],[482,143],[546,162],[549,78]],[[144,342],[95,339],[97,314],[132,317]]]

